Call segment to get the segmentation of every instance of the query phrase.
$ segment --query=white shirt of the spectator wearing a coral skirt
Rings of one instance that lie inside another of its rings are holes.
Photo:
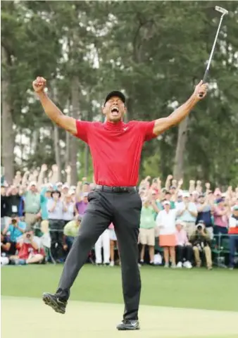
[[[156,224],[160,229],[160,234],[175,234],[176,209],[171,209],[168,213],[161,210],[156,218]]]

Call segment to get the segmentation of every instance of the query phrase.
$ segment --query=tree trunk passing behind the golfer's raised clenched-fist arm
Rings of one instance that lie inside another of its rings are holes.
[[[72,116],[76,120],[80,117],[80,82],[77,77],[73,77],[71,87]],[[70,167],[71,167],[71,184],[77,185],[77,151],[78,141],[75,137],[70,137]]]

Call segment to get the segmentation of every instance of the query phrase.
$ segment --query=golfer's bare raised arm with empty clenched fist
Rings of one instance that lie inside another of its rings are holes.
[[[71,134],[77,134],[76,120],[65,116],[44,92],[44,88],[46,87],[44,77],[37,77],[37,79],[32,82],[32,86],[42,103],[46,115],[59,127],[68,130]]]

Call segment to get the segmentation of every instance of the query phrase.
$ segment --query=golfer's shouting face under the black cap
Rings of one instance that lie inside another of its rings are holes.
[[[106,102],[103,113],[108,121],[118,122],[125,114],[125,104],[119,97],[113,96]]]

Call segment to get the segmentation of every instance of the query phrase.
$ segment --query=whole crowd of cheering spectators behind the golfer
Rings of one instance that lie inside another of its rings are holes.
[[[26,171],[23,176],[17,172],[13,184],[1,184],[1,265],[63,263],[94,189],[94,182],[86,177],[71,185],[70,167],[65,171],[65,183],[56,182],[56,165],[45,177],[44,164],[39,172]],[[222,192],[218,187],[212,190],[208,182],[203,187],[200,181],[190,180],[184,189],[182,180],[169,175],[164,187],[159,178],[146,177],[138,189],[142,199],[139,266],[199,268],[204,264],[211,270],[214,255],[220,258],[223,252],[231,269],[237,265],[238,187]],[[89,252],[89,261],[120,264],[117,249],[111,224]]]

